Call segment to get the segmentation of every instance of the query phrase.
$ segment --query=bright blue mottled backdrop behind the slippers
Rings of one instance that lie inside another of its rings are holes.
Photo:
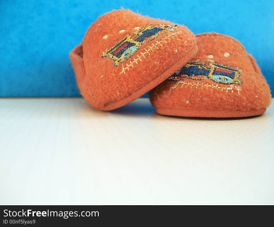
[[[120,7],[238,39],[274,87],[274,1],[0,0],[0,96],[79,96],[69,51]]]

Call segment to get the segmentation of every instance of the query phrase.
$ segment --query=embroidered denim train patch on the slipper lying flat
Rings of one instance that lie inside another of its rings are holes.
[[[240,75],[242,70],[231,66],[210,61],[208,67],[205,62],[190,62],[175,72],[168,80],[181,81],[186,78],[192,80],[210,79],[221,84],[242,84]]]

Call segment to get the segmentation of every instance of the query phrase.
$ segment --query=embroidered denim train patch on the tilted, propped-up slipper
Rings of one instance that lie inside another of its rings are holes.
[[[106,51],[103,52],[102,57],[109,57],[113,59],[113,64],[115,67],[117,67],[125,59],[130,58],[141,47],[142,44],[150,42],[159,34],[173,31],[174,29],[176,29],[176,25],[146,25],[131,35],[126,35],[114,46],[106,49]]]

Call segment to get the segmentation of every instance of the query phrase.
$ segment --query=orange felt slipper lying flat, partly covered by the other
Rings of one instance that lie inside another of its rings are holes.
[[[156,112],[213,118],[263,114],[271,102],[269,86],[243,45],[217,33],[196,37],[196,56],[149,92]]]

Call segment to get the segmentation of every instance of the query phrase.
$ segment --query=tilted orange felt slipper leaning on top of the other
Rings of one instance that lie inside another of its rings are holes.
[[[197,52],[182,25],[114,10],[100,16],[70,52],[81,94],[102,110],[119,108],[148,92]]]

